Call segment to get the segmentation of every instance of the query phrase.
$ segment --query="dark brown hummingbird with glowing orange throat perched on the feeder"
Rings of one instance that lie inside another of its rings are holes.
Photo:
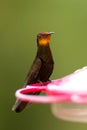
[[[44,83],[49,81],[54,68],[54,60],[50,49],[50,38],[54,32],[42,32],[37,35],[37,53],[31,65],[31,68],[26,76],[24,87],[35,83]],[[28,93],[38,95],[40,92]],[[12,110],[21,112],[27,103],[19,99],[16,100]]]

